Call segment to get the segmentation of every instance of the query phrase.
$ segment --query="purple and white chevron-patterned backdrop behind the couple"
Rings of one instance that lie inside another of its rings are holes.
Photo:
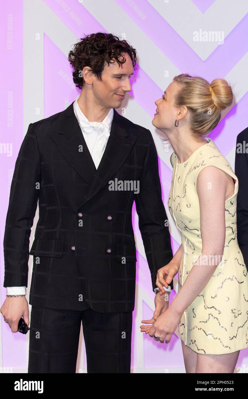
[[[247,127],[247,0],[10,0],[2,3],[1,10],[1,304],[6,295],[6,288],[2,286],[2,242],[16,158],[29,123],[62,111],[80,93],[72,81],[67,57],[72,44],[84,34],[111,32],[129,41],[138,51],[132,91],[127,93],[117,111],[150,129],[153,134],[175,253],[181,237],[167,207],[172,178],[170,154],[173,150],[170,145],[162,143],[161,138],[167,138],[152,126],[156,109],[154,101],[180,73],[200,75],[209,82],[224,77],[234,84],[234,104],[224,111],[219,125],[209,135],[234,170],[236,136]],[[30,246],[37,219],[38,211]],[[150,319],[153,314],[154,294],[135,205],[133,225],[138,260],[133,314],[133,372],[184,373],[177,331],[167,345],[161,345],[140,332],[141,320]],[[29,284],[31,270],[32,257],[29,259]],[[176,277],[174,287],[170,301],[176,294]],[[29,334],[11,333],[2,316],[0,334],[0,366],[10,372],[26,372]],[[237,371],[244,372],[243,365],[247,363],[248,350],[243,350]],[[82,330],[77,369],[80,373],[86,372]]]

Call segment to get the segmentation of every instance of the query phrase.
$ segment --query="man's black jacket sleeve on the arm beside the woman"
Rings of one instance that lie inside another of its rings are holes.
[[[152,278],[152,289],[154,289],[157,288],[158,269],[169,263],[173,254],[169,227],[165,226],[165,221],[168,218],[162,201],[158,154],[150,130],[148,130],[148,134],[148,150],[139,185],[140,192],[135,194],[135,203],[139,216],[139,229]],[[173,280],[170,286],[173,288]]]

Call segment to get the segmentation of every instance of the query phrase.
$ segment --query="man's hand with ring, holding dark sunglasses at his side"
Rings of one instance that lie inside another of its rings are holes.
[[[27,326],[29,325],[29,310],[25,295],[7,296],[0,312],[4,320],[7,320],[12,332],[18,332],[18,323],[21,316],[27,323]]]

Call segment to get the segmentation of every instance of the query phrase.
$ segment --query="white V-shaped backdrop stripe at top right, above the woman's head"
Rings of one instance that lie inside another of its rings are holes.
[[[224,38],[248,12],[248,2],[215,0],[203,14],[191,0],[148,0],[154,9],[172,26],[202,60],[218,47],[216,41],[193,41],[193,32],[224,31]],[[225,41],[225,40],[224,40]]]

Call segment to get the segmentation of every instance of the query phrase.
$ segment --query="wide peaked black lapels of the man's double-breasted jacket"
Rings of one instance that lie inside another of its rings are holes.
[[[90,185],[81,206],[96,195],[114,176],[125,162],[136,140],[136,137],[130,134],[127,125],[123,124],[123,118],[114,109],[110,136],[96,169],[74,114],[73,103],[61,113],[61,118],[55,121],[51,137],[64,158]]]

